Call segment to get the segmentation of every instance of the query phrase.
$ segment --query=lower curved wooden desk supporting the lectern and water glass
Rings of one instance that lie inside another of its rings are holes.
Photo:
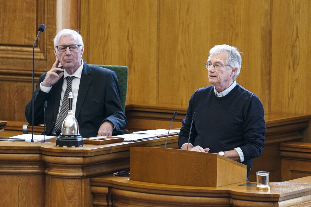
[[[182,176],[182,175],[179,175]],[[270,191],[239,186],[191,187],[131,181],[126,177],[91,178],[95,206],[293,206],[311,205],[311,176],[270,183]]]

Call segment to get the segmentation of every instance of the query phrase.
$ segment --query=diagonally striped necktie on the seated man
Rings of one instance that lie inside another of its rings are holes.
[[[60,112],[58,115],[58,118],[56,120],[55,123],[55,133],[57,135],[59,135],[62,132],[62,125],[63,125],[63,121],[65,120],[65,118],[68,115],[68,110],[69,110],[69,101],[68,101],[68,95],[71,92],[71,83],[72,83],[72,79],[74,79],[74,76],[67,76],[67,88],[63,97],[63,101],[62,101],[62,106],[60,107]]]

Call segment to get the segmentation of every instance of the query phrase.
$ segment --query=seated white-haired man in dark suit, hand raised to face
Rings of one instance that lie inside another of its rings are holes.
[[[82,137],[111,136],[125,128],[120,89],[114,71],[88,65],[82,60],[84,45],[81,35],[63,29],[54,38],[56,61],[51,70],[40,76],[34,96],[34,124],[43,123],[46,108],[46,132],[59,135],[68,114],[68,93],[73,94],[72,111]],[[58,67],[61,64],[61,67]],[[26,106],[26,119],[31,123],[31,100]]]

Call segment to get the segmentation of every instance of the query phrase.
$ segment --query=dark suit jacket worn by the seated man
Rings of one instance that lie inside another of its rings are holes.
[[[35,90],[34,124],[43,123],[44,101],[48,101],[45,111],[46,133],[51,135],[58,114],[63,77],[52,86],[49,93],[45,93],[40,90],[40,83],[45,75],[46,73],[40,76]],[[127,120],[119,94],[118,79],[114,71],[84,62],[75,114],[82,137],[97,136],[98,129],[105,120],[114,124],[113,133],[126,127]],[[25,115],[28,123],[31,123],[31,100],[26,106]]]

